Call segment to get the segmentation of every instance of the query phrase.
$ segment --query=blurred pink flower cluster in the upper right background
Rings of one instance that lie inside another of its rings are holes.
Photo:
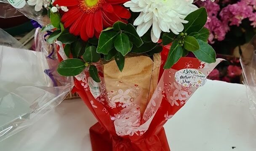
[[[217,53],[230,55],[235,47],[248,43],[256,34],[256,0],[196,3],[207,9],[208,20],[205,27],[211,32],[208,41]]]

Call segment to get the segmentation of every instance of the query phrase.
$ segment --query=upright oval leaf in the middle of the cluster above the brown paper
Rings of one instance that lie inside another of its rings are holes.
[[[125,56],[126,54],[128,54],[128,52],[131,51],[130,48],[131,45],[128,36],[124,33],[117,35],[115,39],[115,49],[123,56]]]

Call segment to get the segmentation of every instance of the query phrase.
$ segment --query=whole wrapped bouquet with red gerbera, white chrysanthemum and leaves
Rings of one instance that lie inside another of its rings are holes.
[[[58,73],[75,76],[74,90],[98,120],[93,151],[170,150],[163,125],[221,62],[207,43],[206,9],[193,0],[54,0],[44,7],[51,23],[41,31],[57,46]]]

